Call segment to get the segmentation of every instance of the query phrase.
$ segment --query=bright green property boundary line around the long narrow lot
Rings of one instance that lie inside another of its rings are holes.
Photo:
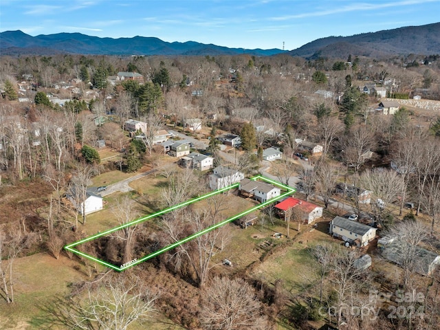
[[[133,259],[133,261],[130,261],[129,263],[125,263],[124,265],[120,265],[120,267],[115,266],[115,265],[113,265],[111,263],[107,263],[106,261],[97,259],[94,256],[90,256],[89,254],[86,254],[84,252],[80,252],[79,250],[74,249],[74,247],[76,247],[76,245],[80,245],[80,244],[86,243],[88,241],[92,241],[94,239],[98,239],[101,236],[110,234],[110,233],[115,232],[117,230],[121,230],[123,228],[129,227],[131,225],[135,225],[137,223],[141,223],[143,221],[146,221],[148,219],[157,217],[157,216],[165,214],[167,212],[171,212],[173,210],[176,210],[177,208],[182,208],[184,206],[190,205],[191,203],[195,203],[196,201],[201,201],[202,199],[206,199],[208,197],[212,197],[214,195],[218,195],[219,193],[227,191],[227,190],[230,190],[232,188],[237,188],[239,186],[239,183],[232,184],[231,186],[227,186],[227,187],[221,188],[219,190],[214,190],[213,192],[209,192],[206,195],[203,195],[203,196],[200,196],[200,197],[197,197],[197,198],[194,198],[194,199],[189,199],[188,201],[185,201],[184,203],[180,203],[180,204],[177,204],[175,206],[171,206],[169,208],[164,208],[164,210],[160,210],[159,212],[156,212],[156,213],[153,213],[153,214],[149,214],[146,217],[142,217],[140,219],[136,219],[136,220],[131,221],[129,223],[124,223],[123,225],[120,225],[120,226],[115,227],[115,228],[111,228],[109,230],[106,230],[105,232],[100,232],[100,233],[98,233],[96,235],[89,236],[89,237],[87,237],[85,239],[81,239],[80,241],[77,241],[77,242],[65,245],[64,248],[65,248],[65,250],[73,252],[74,254],[78,254],[79,256],[83,256],[86,259],[89,259],[91,261],[95,261],[96,263],[100,263],[101,265],[109,267],[109,268],[111,268],[113,270],[116,270],[118,272],[122,272],[123,270],[126,270],[129,267],[133,267],[134,265],[137,265],[139,263],[143,263],[144,261],[147,261],[148,259],[154,258],[155,256],[158,256],[159,254],[167,252],[168,250],[172,250],[174,248],[177,248],[177,246],[179,246],[181,244],[184,244],[184,243],[186,243],[188,241],[191,241],[192,239],[195,239],[198,236],[206,234],[207,232],[210,232],[211,230],[220,228],[222,225],[225,225],[226,223],[234,221],[235,219],[239,219],[240,217],[243,217],[244,215],[249,214],[249,213],[253,212],[254,210],[258,210],[259,208],[263,208],[263,207],[269,205],[270,203],[273,203],[274,201],[278,201],[279,199],[281,199],[283,197],[287,197],[289,195],[292,195],[296,191],[294,188],[291,188],[289,186],[285,186],[284,184],[280,184],[279,182],[274,181],[272,179],[268,179],[267,177],[263,177],[262,175],[257,175],[256,177],[252,177],[252,180],[254,180],[254,181],[256,181],[257,179],[261,179],[261,180],[266,181],[266,182],[268,182],[270,184],[274,184],[275,186],[278,186],[279,188],[283,188],[283,190],[287,190],[287,192],[285,192],[285,193],[281,194],[280,196],[275,197],[273,199],[269,199],[268,201],[265,201],[264,203],[261,203],[261,204],[259,204],[257,206],[254,206],[253,208],[250,208],[250,209],[245,210],[245,211],[243,211],[243,212],[241,212],[239,214],[236,214],[233,217],[230,217],[230,218],[225,219],[225,220],[223,220],[223,221],[221,221],[219,223],[216,223],[215,225],[211,225],[210,227],[208,227],[208,228],[206,228],[204,230],[201,230],[200,232],[196,232],[195,234],[192,234],[190,236],[187,236],[186,238],[181,239],[180,241],[177,241],[177,242],[175,242],[173,244],[167,245],[166,247],[164,247],[164,248],[162,248],[160,250],[157,250],[157,251],[155,251],[155,252],[153,252],[151,254],[148,254],[148,255],[142,257],[141,259]]]

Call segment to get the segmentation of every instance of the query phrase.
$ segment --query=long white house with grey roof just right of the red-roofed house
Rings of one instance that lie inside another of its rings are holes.
[[[342,217],[335,217],[330,221],[329,231],[333,236],[359,247],[368,245],[376,236],[376,228]]]

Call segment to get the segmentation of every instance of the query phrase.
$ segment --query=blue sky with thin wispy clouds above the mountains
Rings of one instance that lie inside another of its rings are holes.
[[[440,21],[440,0],[0,0],[0,31],[155,36],[248,49],[294,50]],[[1,41],[0,41],[1,42]]]

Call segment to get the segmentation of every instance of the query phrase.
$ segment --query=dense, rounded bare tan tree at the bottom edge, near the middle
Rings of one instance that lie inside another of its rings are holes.
[[[204,329],[263,330],[269,327],[254,289],[242,279],[214,278],[206,287],[201,304],[200,318]]]

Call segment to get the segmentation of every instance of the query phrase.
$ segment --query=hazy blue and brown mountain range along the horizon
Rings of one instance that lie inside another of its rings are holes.
[[[382,57],[405,54],[440,54],[440,23],[408,26],[393,30],[382,30],[355,34],[353,36],[329,36],[311,41],[290,52],[272,50],[245,50],[213,44],[187,41],[168,43],[154,37],[99,38],[80,33],[40,34],[30,36],[20,30],[0,33],[0,54],[52,55],[172,55],[172,56],[218,56],[252,54],[271,56],[287,53],[303,58],[347,58],[355,56]]]

